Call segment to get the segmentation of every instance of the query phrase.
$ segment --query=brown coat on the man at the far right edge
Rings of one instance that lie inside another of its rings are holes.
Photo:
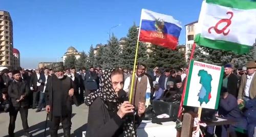
[[[242,99],[244,97],[246,81],[247,81],[247,75],[244,74],[241,76],[241,83],[240,83],[239,92],[238,92],[238,99]],[[256,97],[256,73],[254,74],[254,76],[251,79],[249,94],[250,94],[251,99]]]

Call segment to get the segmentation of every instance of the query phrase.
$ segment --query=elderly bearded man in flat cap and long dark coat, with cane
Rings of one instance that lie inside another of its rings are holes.
[[[62,123],[64,136],[70,136],[71,114],[74,95],[73,80],[64,75],[64,67],[58,66],[56,75],[49,77],[46,86],[46,112],[51,120],[50,134],[58,136],[59,123]]]

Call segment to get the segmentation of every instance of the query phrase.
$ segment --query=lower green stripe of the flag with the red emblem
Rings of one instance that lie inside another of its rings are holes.
[[[239,43],[207,39],[207,38],[201,37],[200,34],[196,35],[195,42],[200,46],[221,49],[225,51],[233,51],[239,54],[248,53],[252,48],[251,46],[242,45]]]

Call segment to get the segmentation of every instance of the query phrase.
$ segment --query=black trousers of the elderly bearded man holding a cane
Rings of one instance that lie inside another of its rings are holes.
[[[58,129],[59,129],[59,123],[61,122],[63,126],[63,132],[64,136],[70,136],[70,130],[71,130],[71,114],[65,117],[52,117],[51,126],[50,126],[50,132],[51,137],[57,137],[58,136]]]

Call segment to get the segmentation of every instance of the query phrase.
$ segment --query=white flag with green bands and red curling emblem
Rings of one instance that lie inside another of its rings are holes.
[[[240,54],[249,52],[256,38],[256,3],[203,1],[198,24],[197,44]]]

